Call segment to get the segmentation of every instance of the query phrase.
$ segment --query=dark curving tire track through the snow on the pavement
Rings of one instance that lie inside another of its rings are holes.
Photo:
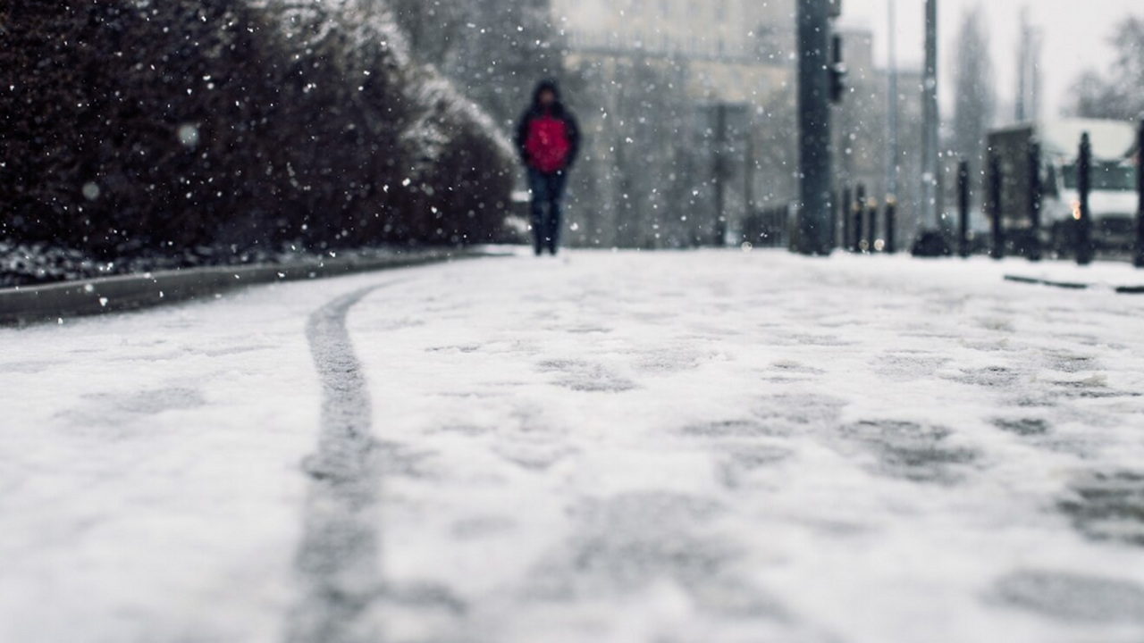
[[[370,391],[345,319],[366,295],[394,283],[335,299],[307,324],[321,383],[318,451],[303,467],[310,478],[295,567],[304,584],[289,616],[288,643],[376,643],[368,618],[381,597],[379,466]]]

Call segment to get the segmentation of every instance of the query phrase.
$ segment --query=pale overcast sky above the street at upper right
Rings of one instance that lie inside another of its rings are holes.
[[[845,26],[867,27],[875,32],[877,61],[887,61],[889,0],[843,0]],[[898,61],[903,66],[921,68],[924,40],[924,1],[897,0]],[[1003,117],[1011,118],[1016,94],[1017,48],[1020,39],[1020,10],[1027,5],[1031,22],[1042,29],[1044,53],[1043,116],[1052,118],[1068,103],[1068,89],[1087,69],[1105,71],[1113,53],[1107,41],[1115,24],[1129,15],[1144,17],[1142,0],[938,0],[943,106],[948,110],[953,85],[954,38],[963,14],[982,5],[991,30],[994,74]]]

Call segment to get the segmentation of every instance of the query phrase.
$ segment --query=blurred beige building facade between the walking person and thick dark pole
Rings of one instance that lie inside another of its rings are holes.
[[[553,19],[586,94],[581,245],[710,243],[716,204],[734,241],[794,198],[794,0],[553,0]]]

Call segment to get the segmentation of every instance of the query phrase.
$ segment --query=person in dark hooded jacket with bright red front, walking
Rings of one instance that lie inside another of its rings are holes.
[[[532,106],[517,127],[516,146],[529,170],[537,256],[546,249],[555,256],[563,229],[561,203],[580,150],[580,126],[561,101],[556,81],[537,86]]]

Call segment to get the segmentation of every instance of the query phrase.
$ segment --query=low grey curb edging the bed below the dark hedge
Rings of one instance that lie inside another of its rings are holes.
[[[496,256],[479,251],[438,251],[376,260],[329,260],[296,265],[193,268],[0,289],[0,326],[62,322],[215,296],[248,286],[411,268]]]

